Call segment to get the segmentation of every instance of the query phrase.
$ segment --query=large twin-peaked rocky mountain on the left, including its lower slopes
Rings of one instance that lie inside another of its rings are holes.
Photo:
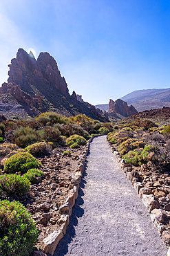
[[[106,113],[88,102],[70,95],[65,78],[49,53],[40,53],[37,60],[32,52],[19,49],[17,57],[8,65],[8,83],[0,88],[0,114],[8,118],[36,116],[45,111],[56,111],[65,116],[78,113],[107,121]]]

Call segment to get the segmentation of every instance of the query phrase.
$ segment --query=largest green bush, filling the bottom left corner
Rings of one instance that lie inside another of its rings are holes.
[[[38,239],[36,224],[17,201],[0,201],[0,255],[28,256]]]

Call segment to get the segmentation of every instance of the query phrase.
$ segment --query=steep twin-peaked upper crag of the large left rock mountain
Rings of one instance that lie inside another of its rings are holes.
[[[23,49],[19,49],[16,59],[12,59],[8,66],[10,67],[8,82],[24,84],[29,73],[32,75],[32,80],[36,77],[47,80],[61,93],[69,95],[65,78],[61,77],[56,61],[49,53],[40,53],[36,61],[32,53],[28,54]]]

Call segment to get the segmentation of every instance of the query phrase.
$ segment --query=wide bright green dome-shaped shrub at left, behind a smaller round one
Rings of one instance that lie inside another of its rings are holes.
[[[31,154],[27,152],[21,152],[10,156],[6,163],[4,164],[4,170],[7,173],[15,172],[27,172],[32,168],[41,167],[41,163],[34,158]]]

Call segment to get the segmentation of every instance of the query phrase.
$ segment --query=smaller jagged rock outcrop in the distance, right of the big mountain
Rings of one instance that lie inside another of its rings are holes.
[[[138,111],[132,106],[127,106],[127,102],[123,100],[109,100],[109,114],[112,116],[116,116],[116,113],[119,113],[122,116],[131,116],[135,113],[138,113]]]

